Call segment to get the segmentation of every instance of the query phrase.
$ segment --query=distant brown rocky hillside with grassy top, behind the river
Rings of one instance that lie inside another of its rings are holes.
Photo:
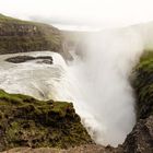
[[[69,54],[64,49],[56,27],[0,14],[0,54],[51,50],[67,58]]]

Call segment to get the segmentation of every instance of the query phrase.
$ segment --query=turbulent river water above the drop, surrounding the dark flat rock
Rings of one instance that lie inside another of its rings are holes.
[[[39,63],[32,60],[22,63],[11,63],[7,58],[16,56],[51,56],[54,64]],[[58,87],[62,86],[64,60],[58,54],[50,51],[13,54],[0,56],[0,87],[10,93],[21,93],[39,99],[61,97]],[[66,97],[67,98],[67,97]]]

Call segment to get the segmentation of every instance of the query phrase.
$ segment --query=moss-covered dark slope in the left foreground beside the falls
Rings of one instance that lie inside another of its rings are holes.
[[[37,101],[0,91],[0,151],[16,146],[69,146],[92,140],[71,103]]]

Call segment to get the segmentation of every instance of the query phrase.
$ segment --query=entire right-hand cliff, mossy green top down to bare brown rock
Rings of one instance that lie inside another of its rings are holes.
[[[146,51],[136,68],[138,122],[123,143],[126,153],[153,152],[153,51]]]

